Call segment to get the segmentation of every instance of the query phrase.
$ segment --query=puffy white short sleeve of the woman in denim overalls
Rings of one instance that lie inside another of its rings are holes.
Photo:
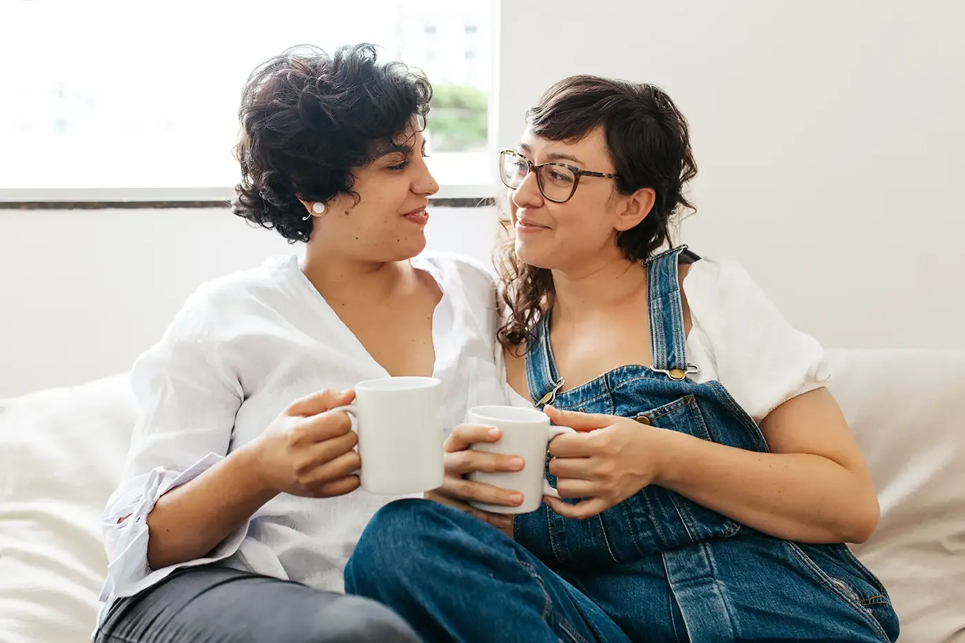
[[[824,349],[792,327],[741,266],[704,259],[691,266],[683,289],[693,323],[688,349],[696,344],[706,353],[713,378],[756,422],[827,383]]]

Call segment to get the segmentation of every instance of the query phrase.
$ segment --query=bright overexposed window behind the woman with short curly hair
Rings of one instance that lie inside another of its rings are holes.
[[[262,60],[303,42],[326,50],[373,42],[386,59],[425,70],[436,96],[427,131],[436,179],[491,186],[491,44],[473,34],[480,60],[458,55],[469,46],[467,22],[489,29],[490,1],[371,0],[359,8],[238,0],[194,3],[184,13],[164,3],[0,3],[0,198],[49,189],[230,195],[241,87]],[[427,47],[429,30],[437,38]]]

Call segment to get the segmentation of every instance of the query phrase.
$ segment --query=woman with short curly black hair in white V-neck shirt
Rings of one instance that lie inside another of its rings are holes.
[[[97,642],[418,640],[342,593],[392,497],[358,489],[356,434],[328,411],[387,376],[440,379],[448,427],[470,401],[505,399],[490,275],[423,253],[430,97],[422,74],[365,44],[292,49],[252,73],[233,210],[305,242],[304,261],[202,286],[135,363]]]

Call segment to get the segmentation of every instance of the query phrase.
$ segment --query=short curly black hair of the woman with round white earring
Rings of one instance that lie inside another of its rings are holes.
[[[252,71],[238,108],[235,157],[241,181],[232,211],[282,237],[307,241],[305,201],[352,191],[354,168],[385,154],[416,119],[426,126],[432,86],[400,62],[382,63],[375,46],[329,55],[291,47]]]

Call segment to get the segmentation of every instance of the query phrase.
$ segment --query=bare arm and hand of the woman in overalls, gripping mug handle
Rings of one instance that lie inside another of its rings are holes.
[[[788,400],[761,423],[771,453],[685,433],[643,429],[632,420],[547,407],[553,422],[592,433],[562,435],[550,471],[567,478],[547,502],[567,517],[590,517],[649,484],[777,538],[861,543],[878,522],[878,500],[857,443],[827,389]],[[569,480],[571,478],[572,480]]]

